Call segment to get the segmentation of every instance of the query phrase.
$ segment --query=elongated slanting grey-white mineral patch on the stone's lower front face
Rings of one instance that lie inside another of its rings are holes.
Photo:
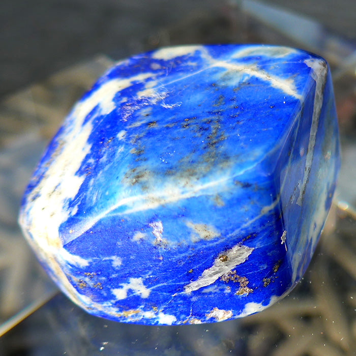
[[[201,287],[213,284],[219,277],[235,268],[236,265],[244,263],[253,250],[252,247],[235,245],[231,249],[221,252],[215,259],[214,264],[209,269],[203,271],[196,281],[192,281],[184,286],[185,292],[190,293]],[[220,259],[221,255],[225,256],[225,258]]]

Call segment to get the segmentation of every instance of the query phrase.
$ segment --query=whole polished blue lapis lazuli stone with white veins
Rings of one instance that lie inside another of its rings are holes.
[[[48,273],[92,314],[226,320],[300,280],[339,165],[322,58],[163,48],[118,63],[75,105],[19,219]]]

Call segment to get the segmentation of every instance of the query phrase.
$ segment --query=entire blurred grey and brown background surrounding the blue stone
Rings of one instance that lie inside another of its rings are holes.
[[[335,203],[304,279],[234,321],[142,327],[85,314],[17,226],[21,195],[73,103],[115,61],[161,46],[268,43],[330,64],[342,143]],[[0,355],[355,355],[356,2],[2,0]]]

